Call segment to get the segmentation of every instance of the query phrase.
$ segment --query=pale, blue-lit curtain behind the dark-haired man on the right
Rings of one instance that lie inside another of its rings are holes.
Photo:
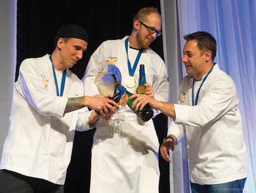
[[[183,35],[207,31],[216,38],[215,61],[232,77],[240,100],[249,172],[244,192],[256,192],[256,1],[161,0],[161,12],[173,103],[178,100],[177,84],[186,75],[181,64]],[[187,193],[190,188],[185,143],[180,143],[171,157],[171,192]]]

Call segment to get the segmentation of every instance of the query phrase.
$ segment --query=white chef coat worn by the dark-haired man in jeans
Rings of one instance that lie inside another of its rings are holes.
[[[194,101],[205,76],[194,83]],[[215,63],[201,87],[197,106],[192,106],[193,80],[193,76],[186,76],[181,82],[181,104],[175,104],[176,120],[168,129],[168,135],[175,135],[179,142],[187,136],[191,182],[222,184],[247,177],[239,100],[233,80]]]

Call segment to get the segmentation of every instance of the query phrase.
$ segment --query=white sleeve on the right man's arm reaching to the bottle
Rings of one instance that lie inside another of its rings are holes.
[[[174,104],[175,123],[193,127],[207,126],[238,105],[235,83],[230,77],[219,78],[208,87],[197,106]]]

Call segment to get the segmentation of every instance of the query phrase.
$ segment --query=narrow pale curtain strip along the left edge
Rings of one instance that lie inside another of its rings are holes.
[[[0,0],[0,159],[9,130],[16,68],[17,0]]]

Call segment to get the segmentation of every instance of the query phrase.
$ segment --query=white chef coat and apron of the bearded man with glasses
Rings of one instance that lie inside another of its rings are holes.
[[[127,38],[105,41],[92,54],[82,80],[86,94],[94,96],[99,93],[94,80],[108,64],[119,68],[122,84],[126,87],[124,82],[129,70],[124,41]],[[138,52],[128,50],[132,67]],[[150,48],[144,50],[134,74],[136,80],[139,80],[140,64],[145,64],[146,82],[153,87],[156,100],[167,102],[169,83],[164,61]],[[126,89],[136,93],[136,87]],[[102,119],[97,125],[92,148],[90,192],[158,192],[158,148],[153,121],[142,123],[127,105],[120,106],[110,120]]]

